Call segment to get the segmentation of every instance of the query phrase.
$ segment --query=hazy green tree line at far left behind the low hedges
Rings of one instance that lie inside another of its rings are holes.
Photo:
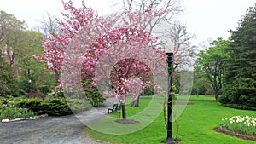
[[[40,32],[26,30],[25,21],[0,11],[0,96],[47,93],[55,84],[52,73],[32,55],[43,55]],[[31,82],[31,83],[30,83]]]

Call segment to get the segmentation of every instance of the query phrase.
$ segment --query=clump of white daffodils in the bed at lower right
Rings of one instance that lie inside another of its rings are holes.
[[[222,130],[230,130],[234,134],[252,135],[256,137],[256,118],[253,116],[233,116],[222,119],[220,124]]]

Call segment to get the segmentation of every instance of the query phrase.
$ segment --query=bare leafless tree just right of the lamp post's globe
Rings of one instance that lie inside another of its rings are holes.
[[[173,56],[173,75],[172,80],[177,88],[177,92],[182,92],[183,84],[180,82],[181,73],[191,71],[195,63],[195,45],[191,45],[191,35],[187,27],[178,21],[170,24],[170,28],[166,29],[164,38],[166,41],[171,41],[174,47]],[[180,90],[181,89],[181,90]]]

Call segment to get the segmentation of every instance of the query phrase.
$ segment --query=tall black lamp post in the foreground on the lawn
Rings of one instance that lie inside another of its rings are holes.
[[[168,109],[167,109],[167,138],[166,143],[175,144],[176,142],[172,138],[172,50],[166,50],[167,62],[168,62]]]

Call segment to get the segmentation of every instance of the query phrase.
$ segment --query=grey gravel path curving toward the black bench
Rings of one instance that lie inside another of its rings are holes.
[[[46,117],[9,123],[0,122],[1,144],[97,144],[83,134],[85,124],[92,124],[107,114],[108,106],[63,117]],[[96,112],[95,112],[96,111]],[[100,114],[99,114],[100,113]],[[82,118],[82,119],[81,119]],[[83,121],[86,120],[86,123]],[[83,123],[82,123],[83,122]]]

